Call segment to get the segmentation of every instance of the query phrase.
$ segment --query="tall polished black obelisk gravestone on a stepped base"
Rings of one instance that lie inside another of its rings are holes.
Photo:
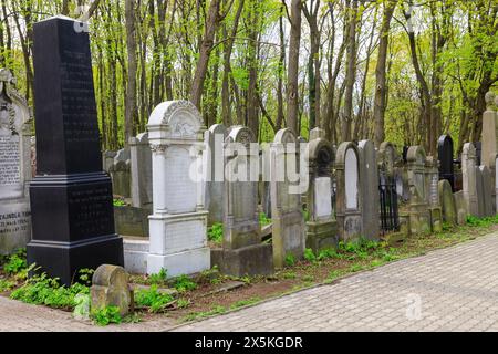
[[[110,177],[102,171],[89,33],[54,17],[34,24],[37,176],[28,263],[63,284],[77,270],[123,266]]]

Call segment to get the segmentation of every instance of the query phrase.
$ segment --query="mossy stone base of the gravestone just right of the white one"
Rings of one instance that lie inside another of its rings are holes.
[[[235,250],[212,249],[211,263],[224,274],[268,275],[273,273],[273,250],[271,244],[253,244]]]

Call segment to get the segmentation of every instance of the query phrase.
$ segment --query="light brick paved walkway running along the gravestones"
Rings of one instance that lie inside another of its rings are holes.
[[[97,327],[0,296],[0,332],[168,329]],[[498,232],[174,331],[498,331]]]

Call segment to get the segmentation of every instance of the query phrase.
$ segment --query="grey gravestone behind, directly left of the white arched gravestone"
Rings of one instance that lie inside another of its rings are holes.
[[[152,153],[148,133],[129,138],[129,158],[132,170],[132,206],[152,209]]]

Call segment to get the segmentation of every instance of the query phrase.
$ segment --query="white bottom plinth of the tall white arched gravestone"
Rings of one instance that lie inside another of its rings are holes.
[[[147,256],[147,274],[158,273],[164,268],[168,277],[194,274],[210,268],[209,247],[197,248],[188,251]]]

